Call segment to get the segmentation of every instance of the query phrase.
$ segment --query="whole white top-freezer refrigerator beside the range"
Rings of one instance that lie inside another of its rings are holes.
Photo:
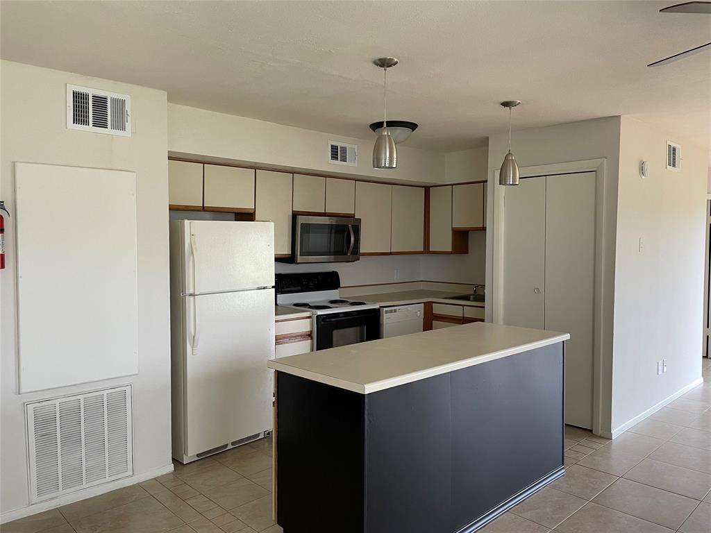
[[[274,225],[170,224],[173,458],[189,463],[272,428]]]

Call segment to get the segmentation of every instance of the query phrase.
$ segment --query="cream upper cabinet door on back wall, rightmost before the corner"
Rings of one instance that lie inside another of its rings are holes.
[[[392,185],[392,252],[424,252],[424,188]]]

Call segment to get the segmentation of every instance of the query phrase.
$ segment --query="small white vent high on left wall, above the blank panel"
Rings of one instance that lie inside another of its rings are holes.
[[[67,127],[131,136],[131,97],[67,85]]]

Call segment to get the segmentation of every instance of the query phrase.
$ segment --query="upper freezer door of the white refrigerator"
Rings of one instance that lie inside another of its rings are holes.
[[[183,224],[183,294],[274,286],[272,222]]]

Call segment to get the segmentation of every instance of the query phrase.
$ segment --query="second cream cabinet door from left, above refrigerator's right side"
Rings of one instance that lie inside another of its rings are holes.
[[[205,165],[205,210],[255,210],[255,171],[252,168]]]

